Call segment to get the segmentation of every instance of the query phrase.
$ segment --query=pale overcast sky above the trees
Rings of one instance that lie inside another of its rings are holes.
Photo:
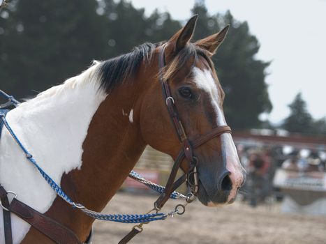
[[[158,8],[176,20],[188,20],[195,0],[129,0],[149,15]],[[315,119],[326,116],[326,0],[206,0],[209,13],[230,10],[247,21],[260,42],[257,59],[272,61],[266,82],[273,104],[262,116],[280,123],[288,105],[302,92]],[[200,17],[200,16],[199,16]],[[229,38],[232,38],[229,37]]]

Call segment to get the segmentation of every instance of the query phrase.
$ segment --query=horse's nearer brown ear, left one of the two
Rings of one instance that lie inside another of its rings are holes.
[[[174,36],[169,40],[169,43],[173,43],[174,52],[179,52],[182,48],[186,46],[188,41],[193,36],[193,31],[195,30],[195,24],[197,22],[198,15],[193,15],[184,28],[180,29]]]

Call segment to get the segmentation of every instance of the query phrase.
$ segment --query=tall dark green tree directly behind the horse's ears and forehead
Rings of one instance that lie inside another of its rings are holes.
[[[212,35],[230,24],[228,36],[213,57],[218,77],[225,91],[224,112],[232,128],[260,127],[259,115],[272,110],[266,71],[269,63],[255,59],[260,45],[249,32],[247,22],[238,22],[230,11],[209,15],[204,1],[197,1],[192,12],[198,13],[195,39]]]

